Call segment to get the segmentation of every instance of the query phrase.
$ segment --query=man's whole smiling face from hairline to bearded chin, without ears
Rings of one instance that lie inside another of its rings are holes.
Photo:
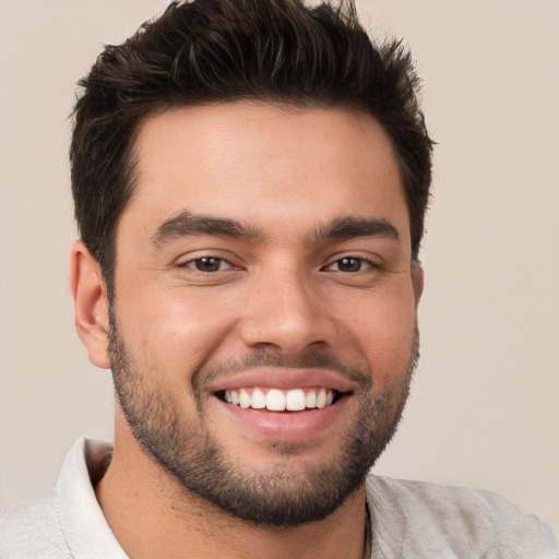
[[[391,438],[419,271],[386,135],[362,114],[174,108],[136,139],[109,352],[162,475],[255,524],[325,518]]]

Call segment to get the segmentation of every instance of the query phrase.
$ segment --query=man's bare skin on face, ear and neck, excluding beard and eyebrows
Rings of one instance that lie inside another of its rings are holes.
[[[357,399],[349,394],[332,423],[288,452],[288,441],[277,444],[229,420],[212,383],[203,382],[204,367],[255,352],[293,361],[321,352],[367,371],[372,385],[365,394],[371,404],[389,395],[396,416],[409,383],[423,273],[411,260],[405,198],[382,128],[342,109],[239,102],[151,117],[135,151],[139,180],[118,224],[112,311],[147,390],[163,390],[178,420],[199,425],[247,475],[280,466],[305,476],[335,461]],[[181,212],[235,219],[259,235],[162,235],[162,225]],[[380,219],[396,235],[317,235],[346,217]],[[204,257],[224,262],[201,272],[195,262]],[[345,257],[361,259],[360,270],[341,267]],[[80,241],[70,285],[90,359],[109,368],[106,286]],[[217,381],[238,373],[225,367]],[[171,558],[186,549],[207,558],[364,552],[362,486],[324,520],[251,525],[186,491],[147,456],[118,403],[114,459],[96,491],[134,558],[160,557],[162,549]]]

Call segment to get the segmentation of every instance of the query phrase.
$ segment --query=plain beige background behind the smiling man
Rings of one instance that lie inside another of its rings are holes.
[[[0,511],[110,438],[66,286],[73,84],[162,0],[0,0]],[[497,490],[559,525],[559,2],[358,1],[412,45],[440,145],[423,357],[377,471]],[[382,35],[382,33],[379,33]]]

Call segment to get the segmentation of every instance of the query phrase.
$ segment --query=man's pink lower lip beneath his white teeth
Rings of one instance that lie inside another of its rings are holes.
[[[334,404],[322,409],[301,412],[269,412],[242,408],[235,404],[212,399],[228,418],[255,435],[270,440],[302,441],[323,435],[338,418],[346,406],[348,396],[342,396]]]

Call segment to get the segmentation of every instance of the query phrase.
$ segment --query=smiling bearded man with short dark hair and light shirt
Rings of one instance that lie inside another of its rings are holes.
[[[171,4],[82,82],[78,332],[114,449],[0,523],[1,557],[557,557],[480,491],[369,476],[418,357],[431,140],[353,8]]]

